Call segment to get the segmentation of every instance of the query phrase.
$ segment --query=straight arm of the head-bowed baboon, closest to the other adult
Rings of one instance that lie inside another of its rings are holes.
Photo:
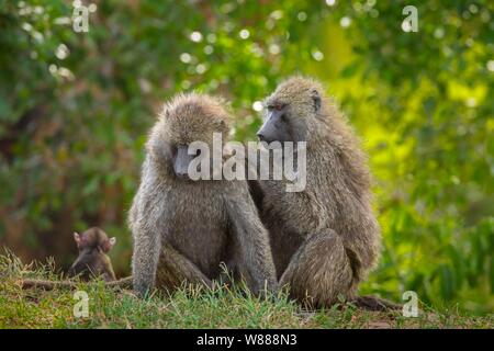
[[[272,261],[268,231],[259,219],[247,184],[243,184],[238,195],[225,196],[225,205],[236,240],[240,246],[243,261],[252,280],[250,288],[260,293],[265,288],[274,292],[277,279]]]

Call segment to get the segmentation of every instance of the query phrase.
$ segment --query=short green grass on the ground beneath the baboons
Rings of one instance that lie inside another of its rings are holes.
[[[285,296],[251,296],[242,287],[214,291],[181,288],[172,296],[155,292],[148,299],[130,291],[104,287],[101,281],[80,283],[89,296],[89,316],[74,316],[74,291],[26,290],[22,278],[60,279],[54,264],[24,267],[0,256],[0,328],[493,328],[493,316],[458,310],[441,313],[422,306],[417,318],[401,313],[373,313],[351,305],[305,312]]]

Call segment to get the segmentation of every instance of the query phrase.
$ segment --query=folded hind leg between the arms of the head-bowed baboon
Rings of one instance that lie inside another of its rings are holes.
[[[156,272],[156,286],[172,291],[180,287],[183,282],[213,287],[212,281],[194,263],[169,244],[164,242]]]

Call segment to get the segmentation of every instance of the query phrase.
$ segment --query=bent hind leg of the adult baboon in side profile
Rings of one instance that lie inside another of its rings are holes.
[[[333,230],[307,238],[280,279],[290,296],[307,307],[330,306],[353,293],[352,271],[341,238]]]

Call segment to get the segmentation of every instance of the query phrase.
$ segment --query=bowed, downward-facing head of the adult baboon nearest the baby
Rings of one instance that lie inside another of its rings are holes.
[[[203,94],[180,94],[173,98],[160,115],[153,133],[158,133],[166,157],[171,161],[173,172],[179,178],[188,178],[189,163],[201,151],[189,154],[194,141],[205,143],[213,150],[213,135],[227,138],[229,115],[216,99]]]

